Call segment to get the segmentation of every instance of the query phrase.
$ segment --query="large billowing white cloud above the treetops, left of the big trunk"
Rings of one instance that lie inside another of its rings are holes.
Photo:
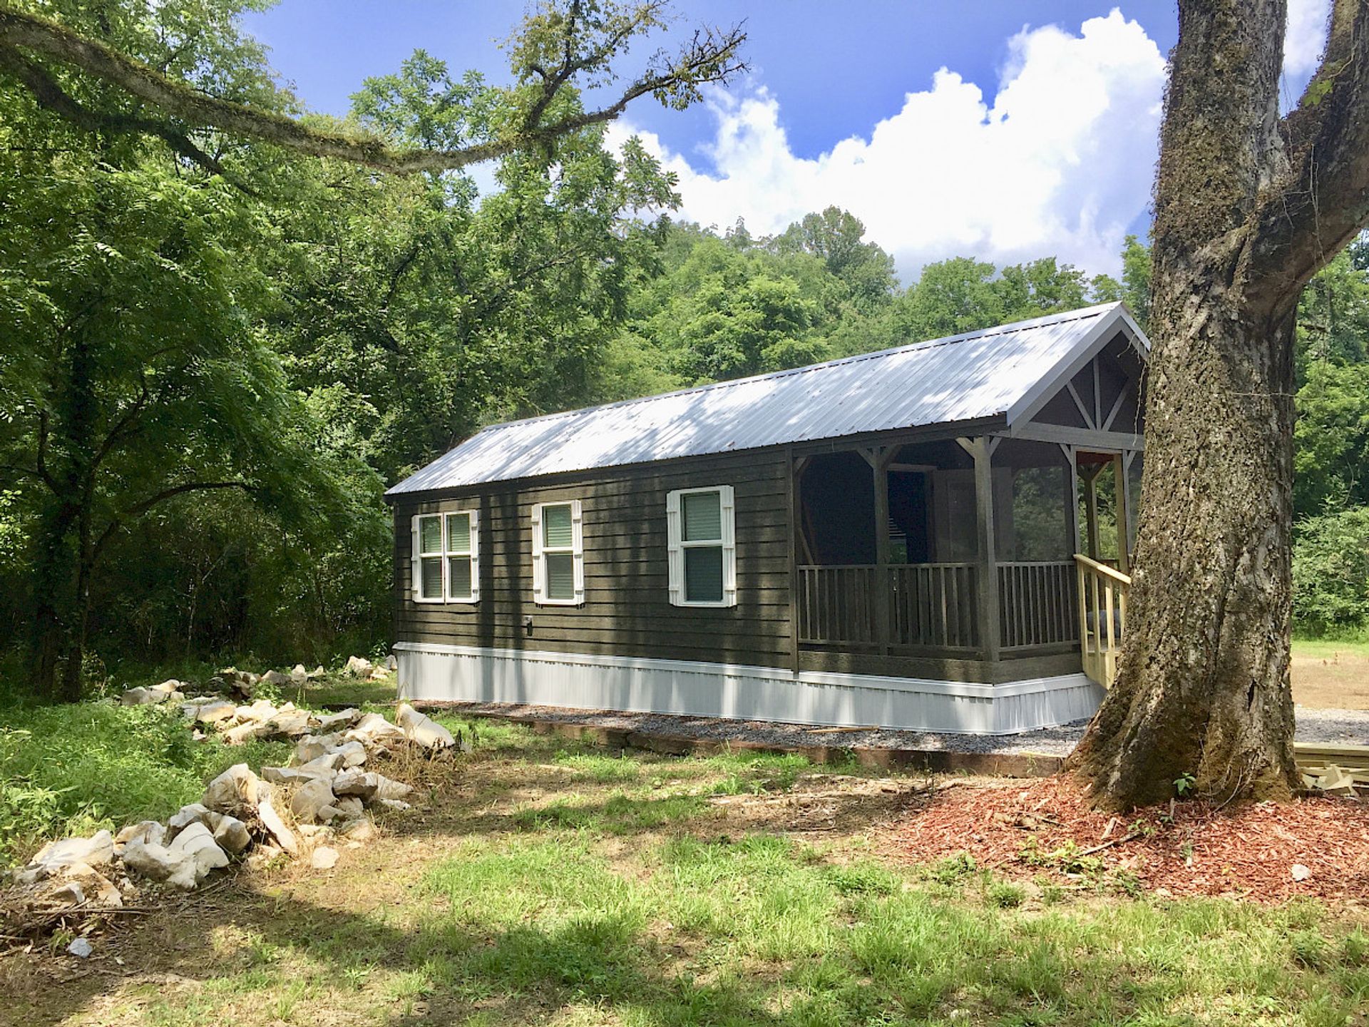
[[[680,215],[704,225],[745,218],[752,231],[775,233],[836,204],[865,222],[905,278],[961,255],[999,264],[1054,255],[1116,271],[1127,226],[1149,204],[1164,78],[1155,44],[1113,11],[1077,36],[1024,29],[991,100],[942,68],[868,138],[816,159],[794,155],[779,100],[764,89],[711,99],[716,174],[641,136],[679,175]]]

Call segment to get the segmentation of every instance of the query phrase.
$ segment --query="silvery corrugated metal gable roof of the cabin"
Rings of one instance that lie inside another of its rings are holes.
[[[1147,345],[1125,307],[1110,303],[790,371],[493,424],[386,494],[1008,419],[1023,400],[1118,330],[1135,345]]]

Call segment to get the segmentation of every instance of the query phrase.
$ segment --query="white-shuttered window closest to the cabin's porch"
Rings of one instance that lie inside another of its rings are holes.
[[[732,486],[680,489],[665,497],[671,604],[737,605]]]

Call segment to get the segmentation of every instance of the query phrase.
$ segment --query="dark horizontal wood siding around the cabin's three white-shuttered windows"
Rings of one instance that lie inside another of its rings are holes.
[[[672,607],[667,589],[665,494],[731,485],[737,519],[737,605]],[[394,507],[394,637],[508,649],[789,667],[790,546],[782,452],[608,468],[560,479],[461,489]],[[533,601],[534,503],[580,500],[585,604]],[[415,603],[411,518],[481,511],[481,601]],[[533,618],[533,630],[523,619]]]

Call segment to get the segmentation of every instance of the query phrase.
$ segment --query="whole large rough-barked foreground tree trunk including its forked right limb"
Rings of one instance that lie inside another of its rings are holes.
[[[1129,808],[1294,785],[1292,333],[1369,218],[1369,1],[1279,118],[1283,0],[1181,0],[1155,181],[1146,468],[1118,679],[1072,757]]]

